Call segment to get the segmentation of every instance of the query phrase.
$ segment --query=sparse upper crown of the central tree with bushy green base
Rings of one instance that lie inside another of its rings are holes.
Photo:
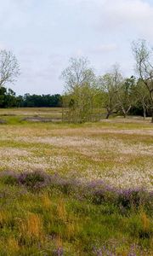
[[[69,63],[69,67],[61,73],[61,79],[65,81],[65,90],[72,91],[76,86],[84,83],[94,84],[94,71],[89,67],[87,58],[71,58]]]

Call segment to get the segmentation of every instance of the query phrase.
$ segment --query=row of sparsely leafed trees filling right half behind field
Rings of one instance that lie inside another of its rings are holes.
[[[152,49],[144,40],[132,44],[137,78],[123,76],[116,64],[108,73],[96,76],[87,58],[71,58],[61,74],[65,82],[64,119],[85,122],[108,119],[112,114],[141,114],[153,123]],[[151,64],[152,63],[152,64]],[[105,109],[105,113],[104,113]]]

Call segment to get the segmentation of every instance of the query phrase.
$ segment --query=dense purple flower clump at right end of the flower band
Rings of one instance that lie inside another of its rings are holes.
[[[84,187],[86,198],[96,205],[111,203],[122,210],[136,208],[139,206],[153,205],[153,193],[143,188],[116,189],[103,180],[87,183]]]

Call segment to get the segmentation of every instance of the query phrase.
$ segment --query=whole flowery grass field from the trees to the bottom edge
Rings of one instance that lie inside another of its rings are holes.
[[[0,255],[153,255],[153,125],[0,110]]]

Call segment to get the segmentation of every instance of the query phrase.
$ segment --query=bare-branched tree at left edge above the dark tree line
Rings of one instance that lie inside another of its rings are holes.
[[[20,74],[20,67],[15,55],[5,49],[0,50],[0,86],[14,83]]]

